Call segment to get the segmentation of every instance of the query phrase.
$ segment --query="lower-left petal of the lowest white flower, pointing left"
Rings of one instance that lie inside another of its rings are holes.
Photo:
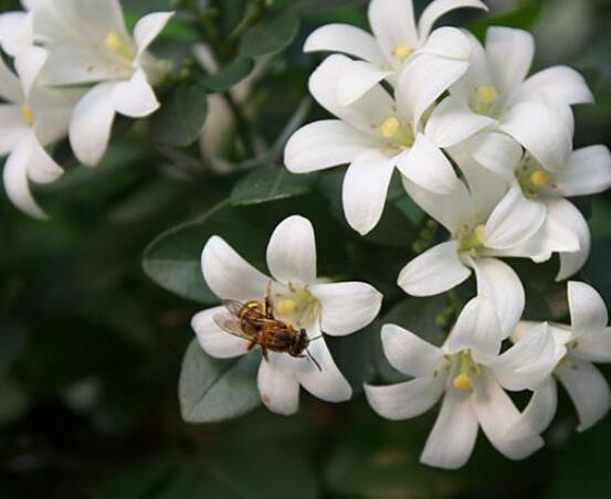
[[[365,385],[365,395],[371,408],[387,420],[401,421],[429,411],[443,394],[444,380],[419,378],[389,386]]]

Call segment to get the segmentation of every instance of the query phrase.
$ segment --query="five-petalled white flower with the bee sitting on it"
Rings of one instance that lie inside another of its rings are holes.
[[[328,402],[350,399],[350,385],[336,367],[320,331],[345,336],[362,329],[378,315],[382,296],[365,283],[316,282],[316,244],[309,221],[291,216],[274,231],[267,246],[273,279],[247,264],[218,236],[206,244],[201,265],[208,286],[222,299],[263,301],[272,283],[275,316],[306,329],[312,339],[309,353],[320,369],[309,357],[287,353],[268,352],[268,361],[261,362],[259,391],[270,410],[285,415],[295,413],[299,385]],[[224,307],[215,307],[193,317],[198,340],[212,357],[243,355],[249,343],[222,330],[213,320],[222,310]]]

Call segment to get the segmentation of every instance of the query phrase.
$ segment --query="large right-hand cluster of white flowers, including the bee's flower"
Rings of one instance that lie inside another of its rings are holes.
[[[572,150],[571,106],[593,102],[592,94],[569,67],[529,76],[535,44],[525,31],[491,28],[483,46],[463,30],[432,30],[440,15],[462,7],[485,9],[480,1],[435,0],[417,26],[409,0],[372,0],[373,35],[343,24],[315,31],[306,51],[343,53],[328,56],[309,81],[314,98],[337,119],[297,130],[285,150],[286,167],[296,173],[349,163],[343,205],[348,224],[364,235],[380,221],[399,171],[411,199],[447,230],[446,241],[398,276],[408,295],[438,295],[475,274],[477,296],[443,346],[400,326],[382,328],[388,360],[411,380],[366,385],[372,408],[391,420],[423,414],[443,399],[422,461],[444,468],[466,463],[480,426],[512,459],[540,448],[556,410],[555,380],[578,408],[579,429],[610,404],[609,386],[591,364],[611,361],[602,299],[571,282],[570,328],[523,323],[524,287],[503,261],[540,263],[558,254],[558,280],[583,266],[590,233],[567,198],[611,185],[605,147]],[[288,300],[287,312],[298,310],[297,323],[310,338],[362,328],[377,314],[379,295],[365,284],[315,284],[310,234],[302,219],[288,219],[274,233],[267,259],[275,299]],[[220,297],[262,299],[267,278],[221,240],[209,241],[202,267]],[[202,347],[220,357],[244,353],[243,341],[214,329],[211,314],[193,321]],[[307,359],[262,362],[260,391],[273,411],[292,413],[299,384],[328,401],[349,396],[324,340],[313,344],[320,372]],[[533,392],[523,412],[507,393],[514,391]]]

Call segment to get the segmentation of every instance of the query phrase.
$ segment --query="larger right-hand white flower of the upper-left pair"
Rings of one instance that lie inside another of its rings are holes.
[[[117,0],[49,0],[33,10],[34,41],[49,52],[45,83],[95,84],[70,124],[72,148],[84,164],[101,161],[117,113],[143,118],[159,107],[151,84],[160,67],[147,49],[171,15],[145,15],[131,38]]]

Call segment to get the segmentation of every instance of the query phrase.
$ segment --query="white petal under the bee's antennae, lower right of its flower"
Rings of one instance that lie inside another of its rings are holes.
[[[308,362],[307,370],[297,371],[296,375],[302,386],[326,402],[350,400],[352,389],[333,360],[325,340],[320,338],[313,341],[308,349],[309,354],[320,364],[320,369]]]

